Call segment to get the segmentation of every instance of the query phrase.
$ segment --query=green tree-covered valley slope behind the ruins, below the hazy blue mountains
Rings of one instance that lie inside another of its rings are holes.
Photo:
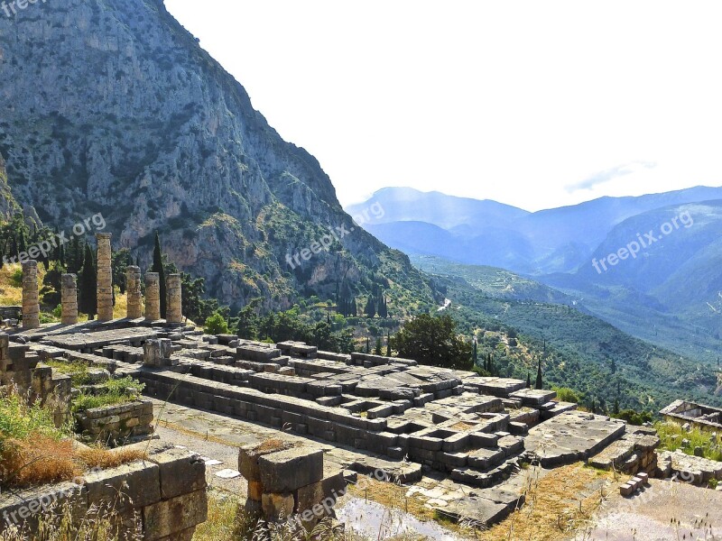
[[[486,296],[464,280],[441,280],[455,299],[452,314],[480,354],[493,351],[499,375],[526,380],[542,358],[547,385],[568,387],[584,403],[612,412],[620,408],[657,412],[680,396],[719,403],[717,374],[708,366],[625,335],[573,307]],[[520,346],[498,336],[511,332]],[[491,335],[488,332],[491,331]],[[531,356],[531,358],[530,358]]]

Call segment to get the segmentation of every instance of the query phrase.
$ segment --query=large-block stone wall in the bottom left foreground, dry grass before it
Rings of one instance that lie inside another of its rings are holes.
[[[186,450],[156,443],[144,460],[86,473],[75,482],[4,492],[0,532],[10,525],[32,532],[39,518],[50,520],[64,505],[77,522],[92,518],[96,509],[114,509],[119,539],[140,527],[145,541],[190,541],[208,517],[206,464]]]

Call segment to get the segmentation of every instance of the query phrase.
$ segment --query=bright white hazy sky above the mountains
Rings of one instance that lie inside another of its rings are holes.
[[[166,0],[344,205],[722,185],[722,5]]]

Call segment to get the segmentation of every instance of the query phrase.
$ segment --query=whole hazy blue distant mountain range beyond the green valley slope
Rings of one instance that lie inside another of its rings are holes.
[[[632,335],[708,361],[720,354],[722,188],[602,197],[535,213],[384,188],[347,212],[374,204],[383,216],[364,227],[393,248],[514,271]]]

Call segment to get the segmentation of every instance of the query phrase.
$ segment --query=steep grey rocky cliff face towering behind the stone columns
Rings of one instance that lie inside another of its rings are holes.
[[[405,256],[354,227],[319,162],[282,140],[161,0],[28,5],[0,16],[0,62],[0,152],[15,197],[44,222],[102,213],[114,247],[143,264],[158,230],[171,261],[232,306],[261,295],[283,307],[344,279],[362,290],[374,273],[431,301]],[[287,262],[329,227],[350,233]]]

